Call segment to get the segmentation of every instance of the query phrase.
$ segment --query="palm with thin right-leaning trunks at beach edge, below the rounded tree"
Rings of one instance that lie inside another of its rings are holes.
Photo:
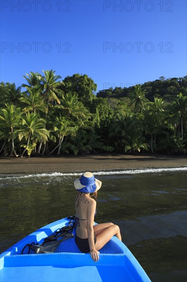
[[[51,155],[57,148],[57,155],[60,155],[60,149],[64,136],[75,135],[77,129],[78,127],[71,120],[68,120],[64,116],[56,117],[53,131],[59,138],[59,142],[58,145],[49,153],[49,155]]]

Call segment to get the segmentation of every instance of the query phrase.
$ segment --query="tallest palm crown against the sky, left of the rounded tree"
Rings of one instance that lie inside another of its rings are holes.
[[[55,75],[55,71],[47,70],[44,71],[44,76],[41,74],[38,75],[41,87],[43,90],[42,96],[46,99],[47,108],[49,108],[49,103],[53,103],[53,101],[60,104],[60,100],[57,95],[63,96],[63,91],[60,89],[60,86],[64,85],[63,82],[57,81],[61,78],[60,75]]]

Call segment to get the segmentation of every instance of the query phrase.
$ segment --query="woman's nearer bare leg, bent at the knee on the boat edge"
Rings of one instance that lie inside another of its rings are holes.
[[[114,235],[120,240],[122,240],[120,228],[118,225],[114,224],[99,232],[96,235],[96,249],[99,251]]]

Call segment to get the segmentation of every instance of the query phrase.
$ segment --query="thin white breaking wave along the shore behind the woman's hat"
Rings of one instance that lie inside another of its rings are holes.
[[[187,171],[187,167],[173,167],[173,168],[145,168],[145,169],[126,169],[126,170],[110,170],[110,171],[96,171],[93,174],[96,175],[110,175],[110,174],[139,174],[139,173],[158,173],[158,172],[175,172],[175,171]],[[74,173],[62,173],[62,172],[51,172],[51,173],[38,173],[38,174],[27,174],[27,175],[0,175],[0,180],[5,179],[19,179],[19,178],[36,178],[36,177],[54,177],[54,176],[78,176],[82,172]],[[2,177],[4,176],[4,177]]]

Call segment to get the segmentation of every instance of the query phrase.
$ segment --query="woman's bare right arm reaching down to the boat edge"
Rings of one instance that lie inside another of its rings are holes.
[[[93,232],[95,211],[96,211],[96,201],[92,200],[90,201],[88,205],[88,210],[87,210],[87,233],[88,233],[88,243],[89,243],[91,258],[94,261],[98,261],[99,260],[99,251],[97,251],[95,248],[94,232]]]

